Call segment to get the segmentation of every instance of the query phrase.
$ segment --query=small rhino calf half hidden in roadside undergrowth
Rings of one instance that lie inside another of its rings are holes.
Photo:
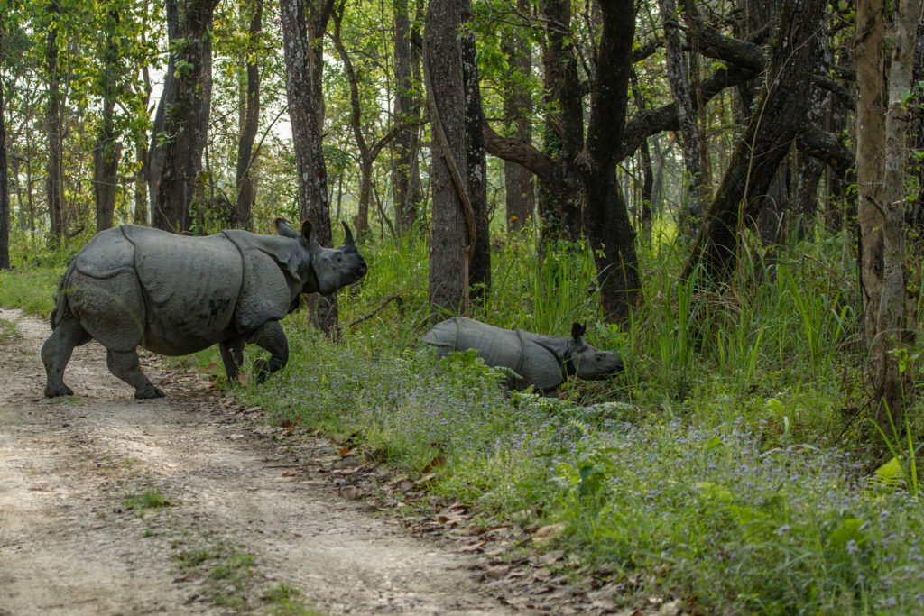
[[[423,342],[436,347],[438,356],[476,349],[488,366],[509,368],[517,374],[508,380],[512,389],[532,385],[552,393],[568,375],[579,379],[605,379],[623,371],[622,357],[615,351],[600,351],[584,342],[585,328],[571,327],[571,336],[544,336],[523,330],[503,330],[465,317],[437,323],[423,335]]]

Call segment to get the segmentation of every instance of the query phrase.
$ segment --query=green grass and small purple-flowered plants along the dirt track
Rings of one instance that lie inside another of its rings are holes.
[[[529,236],[502,236],[473,317],[559,335],[587,321],[591,344],[624,356],[625,375],[558,398],[505,391],[470,353],[435,359],[419,343],[427,246],[379,241],[362,248],[369,275],[340,294],[340,339],[299,310],[286,368],[234,389],[274,422],[432,474],[435,496],[485,519],[556,525],[517,550],[566,550],[555,566],[620,585],[629,606],[655,593],[704,611],[911,613],[924,609],[918,452],[894,436],[904,427],[869,420],[845,241],[746,250],[747,280],[702,295],[675,282],[684,251],[665,235],[642,254],[645,307],[620,330],[598,319],[586,247],[537,262]],[[0,272],[0,305],[44,317],[65,262]],[[229,386],[217,349],[183,363]]]

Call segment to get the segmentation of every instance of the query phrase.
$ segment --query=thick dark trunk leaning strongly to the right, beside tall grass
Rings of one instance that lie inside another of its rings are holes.
[[[684,279],[699,264],[715,284],[734,271],[742,213],[752,199],[766,194],[806,120],[826,6],[823,0],[786,0],[766,86],[706,211],[684,267]]]

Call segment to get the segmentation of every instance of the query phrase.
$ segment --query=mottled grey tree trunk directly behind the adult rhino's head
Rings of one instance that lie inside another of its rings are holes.
[[[312,9],[309,24],[305,2],[280,2],[286,54],[286,98],[298,170],[298,209],[303,218],[310,220],[318,242],[326,247],[333,245],[334,235],[327,192],[327,166],[322,150],[323,57],[320,39],[332,6],[333,0],[309,6]],[[337,331],[336,293],[322,296],[314,318],[323,332],[332,335]]]

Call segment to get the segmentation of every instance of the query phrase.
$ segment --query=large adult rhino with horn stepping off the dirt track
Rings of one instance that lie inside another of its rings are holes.
[[[288,342],[279,320],[298,308],[298,296],[333,293],[367,268],[346,223],[340,248],[322,248],[308,221],[301,233],[281,218],[274,225],[278,236],[176,236],[133,224],[98,233],[58,284],[42,347],[45,395],[73,393],[64,383],[67,361],[91,340],[103,344],[110,371],[136,398],[164,395],[141,372],[139,346],[178,356],[219,344],[231,381],[247,343],[270,352],[256,362],[258,380],[283,368]]]

